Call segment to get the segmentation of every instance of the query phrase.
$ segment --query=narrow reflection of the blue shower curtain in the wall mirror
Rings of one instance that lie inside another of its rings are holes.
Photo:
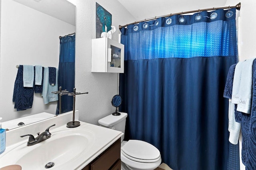
[[[76,35],[60,38],[60,59],[58,68],[58,84],[62,90],[73,92],[75,87],[75,41]],[[61,97],[62,113],[73,109],[73,98],[64,95]],[[59,103],[56,109],[59,114]]]

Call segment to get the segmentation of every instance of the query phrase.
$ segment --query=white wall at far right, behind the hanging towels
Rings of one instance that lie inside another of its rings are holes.
[[[240,11],[236,10],[236,16],[240,16],[240,25],[238,25],[238,59],[239,61],[243,61],[245,59],[250,59],[252,57],[256,57],[256,22],[254,18],[256,18],[255,8],[256,1],[255,0],[240,0],[241,9]],[[234,0],[227,0],[225,6],[234,6],[238,3],[234,2]],[[240,170],[245,170],[244,164],[241,161],[241,149],[242,149],[242,137],[240,135],[239,139],[240,144]]]

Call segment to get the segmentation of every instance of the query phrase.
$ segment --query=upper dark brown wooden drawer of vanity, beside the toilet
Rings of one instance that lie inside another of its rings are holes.
[[[120,159],[121,140],[119,139],[91,165],[91,170],[109,170]]]

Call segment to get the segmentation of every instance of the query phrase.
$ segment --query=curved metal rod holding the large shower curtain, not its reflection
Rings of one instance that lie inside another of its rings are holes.
[[[241,8],[241,2],[239,2],[238,4],[236,4],[236,6],[225,6],[225,7],[218,7],[218,8],[208,8],[208,9],[203,9],[203,10],[194,10],[194,11],[187,11],[187,12],[179,12],[179,13],[175,13],[175,14],[168,14],[165,16],[159,16],[159,17],[154,17],[154,18],[149,18],[149,19],[145,19],[145,20],[141,20],[141,21],[135,21],[133,23],[128,23],[126,25],[119,25],[119,29],[121,29],[122,27],[127,27],[128,25],[132,25],[132,24],[136,24],[136,23],[140,23],[142,21],[150,21],[150,20],[156,20],[158,18],[162,18],[162,17],[169,17],[169,16],[174,16],[174,15],[183,15],[183,14],[189,14],[189,13],[194,13],[194,12],[202,12],[202,11],[209,11],[209,10],[218,10],[218,9],[230,9],[230,8],[236,8],[236,10],[240,10]]]

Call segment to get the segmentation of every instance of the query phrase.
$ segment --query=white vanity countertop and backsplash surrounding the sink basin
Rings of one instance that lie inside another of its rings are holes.
[[[55,140],[56,137],[58,137],[58,135],[56,134],[61,134],[59,133],[60,131],[63,133],[65,132],[65,130],[77,129],[77,130],[86,130],[90,132],[90,134],[93,134],[93,139],[90,140],[90,143],[87,144],[87,145],[90,145],[90,147],[84,150],[84,152],[81,152],[80,154],[76,155],[74,158],[70,159],[68,162],[63,163],[61,165],[56,164],[50,169],[51,170],[81,170],[87,164],[89,164],[92,160],[94,160],[94,158],[100,155],[104,150],[110,147],[110,145],[112,145],[122,135],[124,135],[120,131],[115,131],[112,129],[100,127],[98,125],[92,125],[90,123],[85,123],[81,121],[80,121],[81,125],[79,127],[67,128],[66,123],[68,121],[71,121],[71,119],[72,119],[72,114],[67,113],[65,115],[60,115],[44,121],[32,123],[24,127],[19,127],[19,128],[7,131],[6,132],[7,147],[4,153],[0,154],[0,168],[11,165],[11,164],[16,164],[16,161],[19,159],[18,154],[17,154],[17,158],[15,158],[15,156],[12,156],[12,158],[8,158],[8,154],[10,155],[10,152],[13,149],[22,146],[23,149],[26,149],[26,152],[31,151],[30,153],[33,153],[33,149],[35,149],[36,147],[40,147],[40,145],[46,145],[51,140]],[[50,133],[52,133],[51,138],[45,141],[42,141],[41,143],[28,147],[26,146],[28,137],[20,138],[20,135],[26,135],[26,134],[32,134],[36,136],[36,133],[39,132],[38,129],[40,129],[40,132],[43,132],[47,127],[49,127],[52,124],[56,124],[56,126],[50,128]],[[41,130],[41,129],[44,129],[44,130]],[[72,139],[71,139],[71,142],[72,142]],[[70,145],[72,146],[72,143],[70,143]],[[54,148],[47,148],[47,149],[54,149]],[[63,150],[65,150],[65,148],[63,148]],[[35,158],[36,156],[38,155],[35,155]],[[33,162],[33,160],[29,160],[29,161]],[[46,163],[48,162],[45,162],[45,164]],[[41,169],[41,167],[37,168],[37,170],[39,169]],[[45,168],[42,167],[42,170],[44,169]],[[22,168],[22,170],[26,170],[26,169]]]

